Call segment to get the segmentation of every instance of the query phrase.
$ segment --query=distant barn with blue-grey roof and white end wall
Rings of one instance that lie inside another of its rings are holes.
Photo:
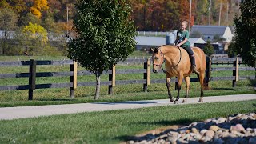
[[[232,34],[229,26],[201,26],[194,25],[191,28],[190,35],[201,35],[202,39],[214,40],[214,37],[224,38],[223,42],[231,42],[234,34]]]

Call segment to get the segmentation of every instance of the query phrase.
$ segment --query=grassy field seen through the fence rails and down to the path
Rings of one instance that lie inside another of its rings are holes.
[[[135,52],[132,56],[149,55],[145,52]],[[131,57],[132,57],[131,56]],[[28,60],[27,57],[20,57],[20,60]],[[50,59],[64,59],[61,57],[35,57],[39,60]],[[14,61],[18,57],[0,57],[0,61]],[[216,66],[214,66],[216,67]],[[231,66],[230,66],[231,67]],[[142,65],[130,65],[122,66],[117,65],[117,70],[126,69],[142,69]],[[28,66],[12,66],[1,67],[0,74],[13,74],[28,72]],[[69,71],[70,66],[37,66],[37,72],[58,72]],[[78,70],[85,70],[78,66]],[[254,75],[254,71],[239,71],[240,76]],[[212,72],[213,77],[232,76],[232,71],[218,71]],[[191,78],[195,78],[196,75],[192,74]],[[151,79],[165,79],[165,74],[150,74]],[[117,74],[116,80],[135,80],[143,79],[143,74]],[[95,76],[78,76],[78,82],[94,82]],[[108,81],[108,75],[102,75],[102,82]],[[69,77],[52,77],[52,78],[36,78],[37,84],[43,83],[65,83],[70,82]],[[27,85],[28,78],[2,78],[0,80],[0,86],[15,86],[15,85]],[[190,97],[198,97],[200,86],[198,82],[191,82]],[[206,96],[213,95],[225,95],[225,94],[251,94],[255,93],[253,88],[254,82],[250,80],[242,80],[237,82],[236,87],[232,87],[232,81],[213,81],[210,82],[210,90],[205,90]],[[34,100],[32,102],[27,101],[28,90],[5,90],[0,91],[0,107],[2,106],[33,106],[33,105],[49,105],[49,104],[64,104],[64,103],[79,103],[79,102],[114,102],[114,101],[126,101],[126,100],[142,100],[142,99],[154,99],[154,98],[168,98],[166,92],[166,84],[150,84],[148,86],[148,92],[144,93],[142,84],[129,84],[115,86],[113,89],[113,95],[107,95],[108,86],[102,86],[101,97],[98,101],[94,101],[94,86],[78,87],[75,89],[75,98],[69,98],[69,88],[59,89],[40,89],[34,90]],[[185,84],[182,85],[181,97],[185,95]],[[171,90],[174,97],[177,92],[174,90],[174,83],[171,83]]]

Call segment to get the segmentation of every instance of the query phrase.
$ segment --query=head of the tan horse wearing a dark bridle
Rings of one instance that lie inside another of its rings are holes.
[[[158,73],[160,67],[165,62],[164,55],[162,54],[161,50],[158,49],[151,49],[153,51],[152,55],[152,62],[153,62],[153,72]]]

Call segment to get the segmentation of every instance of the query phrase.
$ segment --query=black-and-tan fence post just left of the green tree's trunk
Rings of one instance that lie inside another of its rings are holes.
[[[74,98],[74,89],[78,85],[78,62],[75,62],[70,65],[70,71],[73,71],[73,75],[70,76],[70,82],[73,83],[73,86],[70,87],[70,98]]]

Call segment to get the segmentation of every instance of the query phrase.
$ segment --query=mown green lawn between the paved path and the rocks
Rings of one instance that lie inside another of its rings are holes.
[[[0,121],[0,143],[120,143],[170,125],[256,112],[256,100],[158,106]]]

